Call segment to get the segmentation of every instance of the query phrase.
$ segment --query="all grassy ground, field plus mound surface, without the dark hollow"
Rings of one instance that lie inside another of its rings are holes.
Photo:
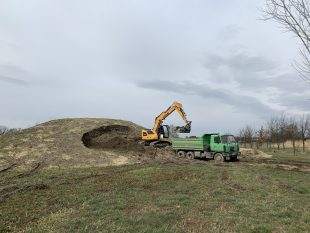
[[[126,121],[63,119],[0,137],[0,232],[310,231],[309,152],[215,164],[83,145],[84,133],[116,124],[140,133]]]

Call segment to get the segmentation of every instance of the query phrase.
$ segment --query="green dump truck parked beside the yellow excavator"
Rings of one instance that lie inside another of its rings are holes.
[[[201,137],[173,138],[172,149],[180,157],[207,158],[216,161],[234,161],[239,155],[239,145],[233,135],[217,133]]]

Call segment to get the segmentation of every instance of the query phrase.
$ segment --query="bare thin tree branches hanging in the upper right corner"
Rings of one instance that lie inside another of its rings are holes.
[[[310,2],[309,0],[266,0],[264,19],[274,20],[294,33],[302,44],[301,61],[294,66],[301,78],[310,82]]]

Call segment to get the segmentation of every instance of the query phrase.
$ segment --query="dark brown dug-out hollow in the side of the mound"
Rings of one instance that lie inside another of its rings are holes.
[[[83,134],[82,142],[88,148],[141,150],[139,132],[125,125],[108,125]]]

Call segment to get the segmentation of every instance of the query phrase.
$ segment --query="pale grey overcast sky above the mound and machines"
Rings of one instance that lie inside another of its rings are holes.
[[[309,113],[309,84],[291,66],[297,39],[259,20],[263,4],[1,0],[0,125],[108,117],[151,127],[174,100],[197,134]]]

